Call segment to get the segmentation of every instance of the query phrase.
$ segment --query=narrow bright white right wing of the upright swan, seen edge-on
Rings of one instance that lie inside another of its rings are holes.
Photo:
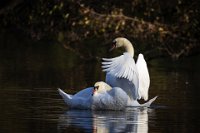
[[[139,96],[144,100],[148,100],[150,78],[149,78],[147,63],[142,54],[139,54],[138,56],[136,67],[139,74],[139,89],[138,89]]]

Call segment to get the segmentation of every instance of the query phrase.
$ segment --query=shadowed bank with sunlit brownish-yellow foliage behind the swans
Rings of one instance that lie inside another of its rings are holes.
[[[87,47],[102,45],[91,40],[124,36],[149,58],[178,59],[199,54],[199,7],[195,0],[3,0],[0,28],[51,37],[82,58],[96,58]]]

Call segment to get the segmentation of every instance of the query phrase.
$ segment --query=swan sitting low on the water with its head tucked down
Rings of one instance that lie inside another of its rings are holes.
[[[70,108],[92,110],[123,110],[128,101],[127,94],[119,87],[111,87],[103,81],[96,82],[94,87],[70,95],[58,89],[64,102]]]

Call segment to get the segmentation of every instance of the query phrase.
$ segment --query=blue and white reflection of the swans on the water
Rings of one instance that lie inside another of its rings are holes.
[[[147,133],[148,110],[149,108],[127,108],[126,111],[68,110],[60,115],[58,130]]]

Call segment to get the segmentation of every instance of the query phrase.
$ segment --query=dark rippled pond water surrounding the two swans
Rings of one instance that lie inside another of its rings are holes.
[[[75,93],[103,80],[99,62],[82,61],[53,43],[3,43],[12,45],[0,50],[1,133],[200,132],[199,57],[148,62],[149,95],[158,95],[151,108],[68,110],[56,88]]]

